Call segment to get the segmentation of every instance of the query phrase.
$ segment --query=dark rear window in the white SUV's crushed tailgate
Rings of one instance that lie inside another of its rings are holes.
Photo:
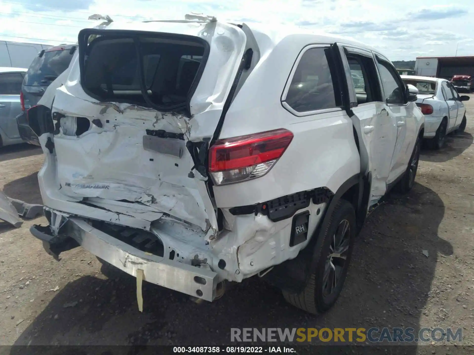
[[[187,106],[205,65],[204,41],[191,36],[108,32],[112,31],[92,35],[92,40],[85,35],[80,44],[86,92],[100,101],[157,109]]]

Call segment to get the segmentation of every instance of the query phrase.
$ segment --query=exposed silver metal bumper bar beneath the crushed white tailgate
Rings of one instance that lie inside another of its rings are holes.
[[[137,269],[141,269],[144,279],[152,284],[210,302],[216,297],[217,274],[210,269],[145,254],[145,252],[93,228],[79,218],[67,220],[64,225],[64,234],[76,240],[82,248],[129,275],[136,277]]]

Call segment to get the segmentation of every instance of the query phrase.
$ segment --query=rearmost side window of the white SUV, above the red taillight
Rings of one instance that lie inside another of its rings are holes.
[[[328,56],[329,48],[310,48],[302,55],[284,100],[293,110],[308,112],[340,105]]]

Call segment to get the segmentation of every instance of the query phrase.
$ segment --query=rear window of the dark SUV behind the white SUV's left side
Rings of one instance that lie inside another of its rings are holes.
[[[54,47],[46,49],[42,56],[37,55],[28,68],[23,85],[48,86],[63,71],[73,59],[71,48]]]

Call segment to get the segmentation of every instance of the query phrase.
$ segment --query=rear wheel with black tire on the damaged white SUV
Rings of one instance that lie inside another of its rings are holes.
[[[285,300],[309,313],[319,314],[328,311],[336,303],[346,280],[355,236],[356,212],[354,207],[347,201],[340,200],[331,215],[326,232],[321,237],[323,242],[319,251],[316,271],[310,275],[308,283],[301,293],[294,294],[282,290]],[[333,250],[337,248],[340,249],[337,250],[339,253],[334,253]],[[336,254],[338,256],[331,257]],[[334,286],[332,282],[329,285],[329,280],[334,281],[334,275],[336,275],[336,285]],[[329,286],[331,286],[329,291],[332,291],[327,293]]]

